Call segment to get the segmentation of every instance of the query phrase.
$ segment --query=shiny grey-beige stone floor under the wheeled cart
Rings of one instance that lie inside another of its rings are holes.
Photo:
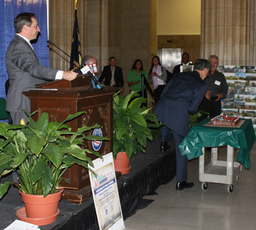
[[[234,151],[235,154],[237,151]],[[210,152],[206,155],[210,157]],[[225,160],[226,147],[219,148],[219,159]],[[227,185],[209,183],[206,191],[199,182],[199,159],[189,161],[188,181],[192,189],[176,191],[176,177],[156,190],[158,195],[148,207],[138,210],[125,220],[126,230],[240,230],[256,229],[256,144],[250,150],[251,168],[242,167],[240,180],[234,181],[234,190],[228,193]]]

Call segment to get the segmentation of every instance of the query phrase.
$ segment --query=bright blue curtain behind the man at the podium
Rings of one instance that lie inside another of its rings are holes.
[[[15,35],[14,18],[22,12],[33,12],[39,23],[40,36],[32,46],[40,64],[49,67],[49,50],[47,36],[47,4],[46,0],[0,0],[0,97],[6,99],[5,82],[8,79],[5,53]]]

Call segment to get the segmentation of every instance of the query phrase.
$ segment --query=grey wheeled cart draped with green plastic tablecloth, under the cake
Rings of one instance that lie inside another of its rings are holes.
[[[253,123],[244,120],[241,127],[205,126],[211,118],[197,123],[189,131],[187,137],[180,144],[182,155],[188,160],[199,157],[199,181],[202,189],[207,190],[208,182],[228,185],[228,192],[232,193],[234,178],[238,179],[243,164],[250,168],[249,150],[255,141]],[[228,146],[227,160],[217,160],[217,147]],[[213,147],[210,163],[204,167],[204,147]],[[238,148],[237,162],[233,161],[234,148]]]

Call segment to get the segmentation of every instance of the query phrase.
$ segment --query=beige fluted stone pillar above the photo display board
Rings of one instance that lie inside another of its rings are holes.
[[[201,58],[220,65],[256,65],[255,0],[202,0]]]

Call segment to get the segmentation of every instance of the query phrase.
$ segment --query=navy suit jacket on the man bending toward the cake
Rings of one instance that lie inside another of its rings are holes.
[[[166,85],[154,113],[158,120],[185,137],[189,131],[189,113],[195,113],[207,91],[197,71],[176,74]]]

